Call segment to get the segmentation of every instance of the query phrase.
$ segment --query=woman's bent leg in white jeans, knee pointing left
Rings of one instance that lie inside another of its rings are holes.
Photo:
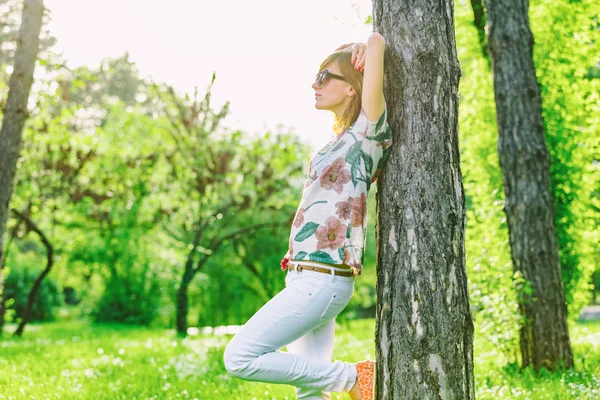
[[[286,283],[286,288],[258,310],[229,342],[223,355],[225,368],[231,375],[249,381],[289,384],[317,392],[349,390],[356,376],[352,364],[332,363],[331,355],[329,360],[320,361],[279,350],[326,323],[332,304],[340,307],[340,297],[349,293],[349,301],[352,292],[340,295],[342,291],[327,275],[288,275]],[[333,294],[337,296],[335,301]]]

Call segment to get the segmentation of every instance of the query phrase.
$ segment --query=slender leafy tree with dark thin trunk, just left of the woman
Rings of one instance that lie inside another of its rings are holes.
[[[187,335],[190,285],[209,259],[226,243],[261,229],[283,227],[287,223],[270,220],[268,214],[263,214],[272,208],[267,202],[269,197],[278,193],[281,185],[285,187],[288,184],[287,181],[275,179],[275,170],[269,158],[259,160],[249,157],[244,159],[241,167],[237,167],[236,157],[243,159],[244,156],[239,148],[235,148],[237,144],[228,143],[228,140],[213,140],[211,133],[217,132],[229,107],[229,103],[226,103],[219,113],[211,110],[211,90],[215,79],[216,75],[213,74],[202,101],[199,101],[195,91],[192,104],[182,101],[172,87],[167,87],[166,93],[162,94],[165,104],[172,104],[176,110],[173,114],[165,109],[172,125],[169,133],[179,150],[169,160],[172,175],[179,185],[186,187],[189,207],[195,213],[194,220],[190,221],[192,223],[184,224],[182,233],[172,234],[186,243],[188,248],[175,298],[175,322],[180,337]],[[157,87],[157,90],[161,93],[160,88]],[[263,142],[266,144],[266,141]],[[251,154],[250,150],[244,149],[248,155]],[[243,176],[243,182],[253,185],[253,190],[245,191],[248,187],[232,188],[227,181],[229,174]],[[185,176],[191,179],[184,180]],[[255,221],[252,225],[237,227],[235,221],[240,219],[240,215],[262,215],[265,222]]]

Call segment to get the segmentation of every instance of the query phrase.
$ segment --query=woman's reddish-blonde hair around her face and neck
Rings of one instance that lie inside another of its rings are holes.
[[[352,65],[352,53],[347,51],[336,51],[335,53],[330,54],[319,67],[319,71],[323,70],[327,65],[331,63],[336,63],[340,68],[340,72],[344,78],[346,78],[346,82],[352,86],[354,91],[356,92],[356,96],[350,101],[348,107],[344,110],[344,115],[342,118],[338,118],[335,116],[333,123],[333,131],[336,134],[340,134],[344,132],[346,129],[350,128],[350,125],[356,121],[358,115],[360,114],[360,109],[362,107],[362,82],[363,82],[363,74],[354,69]]]

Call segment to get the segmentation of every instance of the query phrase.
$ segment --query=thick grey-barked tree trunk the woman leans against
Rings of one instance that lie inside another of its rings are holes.
[[[373,17],[394,132],[376,195],[377,398],[474,399],[453,2],[376,0]]]

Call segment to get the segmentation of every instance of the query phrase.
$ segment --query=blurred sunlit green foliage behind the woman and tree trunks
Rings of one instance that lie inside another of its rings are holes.
[[[466,0],[455,3],[470,300],[476,336],[511,362],[517,357],[515,288],[523,280],[511,265],[492,76],[470,7]],[[6,26],[18,26],[10,8],[1,10]],[[599,14],[596,2],[530,4],[571,321],[591,302],[593,277],[600,279]],[[0,35],[2,49],[11,48],[13,28]],[[51,47],[52,38],[44,43]],[[0,103],[12,63],[10,51],[2,54]],[[207,261],[187,292],[191,326],[243,324],[283,288],[279,261],[306,178],[307,144],[285,131],[254,137],[222,127],[228,104],[213,109],[211,86],[177,93],[140,78],[128,54],[96,69],[71,70],[45,51],[38,62],[10,204],[55,250],[35,320],[51,320],[59,310],[63,318],[172,328],[186,262],[202,257]],[[340,323],[375,315],[372,189],[365,272]],[[224,232],[264,222],[272,226],[215,246]],[[206,229],[195,246],[200,225]],[[17,219],[9,221],[8,234],[7,318],[17,322],[24,291],[46,254]]]

